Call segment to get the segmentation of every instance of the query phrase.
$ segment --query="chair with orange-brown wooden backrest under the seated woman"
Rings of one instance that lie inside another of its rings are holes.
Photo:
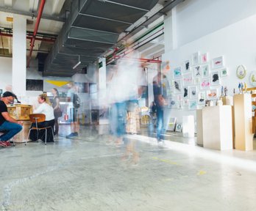
[[[45,114],[29,114],[29,119],[30,122],[35,123],[35,127],[31,127],[29,129],[29,135],[31,130],[46,130],[46,138],[47,138],[47,129],[51,128],[51,133],[52,133],[52,138],[54,138],[54,132],[51,126],[49,127],[38,127],[39,122],[44,122],[46,120],[46,115]],[[27,136],[26,140],[29,139],[29,135]],[[46,144],[46,138],[44,144]],[[25,142],[26,145],[26,142]]]

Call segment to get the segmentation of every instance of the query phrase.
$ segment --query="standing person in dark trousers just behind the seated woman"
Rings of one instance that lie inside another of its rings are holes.
[[[58,118],[62,116],[63,112],[60,110],[60,97],[59,92],[56,88],[51,89],[52,95],[54,95],[52,100],[52,108],[54,108],[54,136],[59,133],[59,122]]]

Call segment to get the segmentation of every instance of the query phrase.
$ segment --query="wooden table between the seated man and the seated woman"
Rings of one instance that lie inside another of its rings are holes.
[[[23,129],[20,133],[13,137],[17,143],[24,143],[29,133],[29,127],[31,122],[29,121],[29,114],[33,113],[31,105],[7,105],[8,113],[13,119],[17,121],[23,121]]]

